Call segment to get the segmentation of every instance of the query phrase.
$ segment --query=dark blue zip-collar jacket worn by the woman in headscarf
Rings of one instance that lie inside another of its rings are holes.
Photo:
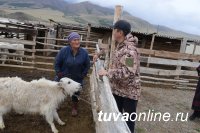
[[[63,77],[68,77],[76,82],[82,83],[90,68],[88,52],[79,48],[76,55],[73,54],[71,46],[63,47],[56,56],[55,71],[61,72]]]

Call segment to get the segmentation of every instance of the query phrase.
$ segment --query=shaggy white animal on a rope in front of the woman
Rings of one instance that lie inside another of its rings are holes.
[[[4,129],[3,115],[11,110],[20,114],[44,115],[53,133],[58,133],[53,120],[60,125],[57,108],[67,95],[72,96],[81,89],[81,84],[62,78],[59,82],[45,78],[26,82],[19,77],[0,78],[0,129]]]

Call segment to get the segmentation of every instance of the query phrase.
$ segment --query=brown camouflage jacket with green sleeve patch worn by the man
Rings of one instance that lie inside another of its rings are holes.
[[[113,52],[112,65],[108,70],[113,94],[134,100],[138,100],[141,93],[140,54],[137,44],[137,37],[128,34]]]

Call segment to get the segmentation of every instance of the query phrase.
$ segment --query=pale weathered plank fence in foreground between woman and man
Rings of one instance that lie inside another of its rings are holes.
[[[97,51],[99,51],[98,45]],[[93,66],[90,76],[90,94],[96,133],[130,133],[126,122],[121,120],[122,114],[116,121],[113,118],[111,121],[101,121],[100,119],[103,117],[99,118],[100,116],[98,113],[100,111],[102,111],[102,113],[119,114],[117,104],[111,92],[109,79],[106,76],[99,77],[97,74],[100,69],[104,69],[104,63],[104,61],[98,60]]]

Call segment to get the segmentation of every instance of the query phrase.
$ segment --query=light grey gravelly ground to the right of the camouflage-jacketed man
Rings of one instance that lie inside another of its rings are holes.
[[[172,119],[176,118],[176,113],[192,113],[191,104],[194,91],[178,90],[161,87],[142,87],[142,98],[138,103],[137,112],[169,112]],[[200,133],[200,120],[187,120],[186,122],[173,121],[138,121],[136,122],[136,133]]]

